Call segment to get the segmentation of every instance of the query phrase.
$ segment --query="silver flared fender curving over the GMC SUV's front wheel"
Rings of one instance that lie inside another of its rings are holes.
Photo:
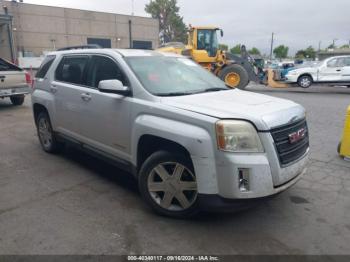
[[[141,115],[132,130],[132,162],[137,164],[137,147],[143,135],[153,135],[178,143],[191,155],[197,177],[198,192],[218,192],[212,137],[202,127],[154,115]]]

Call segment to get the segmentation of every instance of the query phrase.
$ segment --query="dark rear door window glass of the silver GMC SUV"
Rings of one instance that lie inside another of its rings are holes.
[[[83,78],[88,56],[64,57],[56,69],[56,80],[77,85],[86,85]]]

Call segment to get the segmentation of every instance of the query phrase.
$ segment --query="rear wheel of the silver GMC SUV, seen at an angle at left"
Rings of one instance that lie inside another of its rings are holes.
[[[52,130],[50,117],[46,112],[39,113],[36,119],[36,126],[43,150],[47,153],[57,153],[61,149],[61,144],[57,141]]]

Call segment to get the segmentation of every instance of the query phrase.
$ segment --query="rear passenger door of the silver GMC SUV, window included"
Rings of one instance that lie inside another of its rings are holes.
[[[86,92],[88,55],[63,56],[51,82],[50,92],[55,98],[56,130],[81,140],[81,120]]]

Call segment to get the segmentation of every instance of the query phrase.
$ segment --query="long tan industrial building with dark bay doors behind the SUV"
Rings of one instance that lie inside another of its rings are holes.
[[[158,47],[159,21],[148,17],[0,1],[0,57],[40,64],[48,51],[98,44],[105,48]]]

